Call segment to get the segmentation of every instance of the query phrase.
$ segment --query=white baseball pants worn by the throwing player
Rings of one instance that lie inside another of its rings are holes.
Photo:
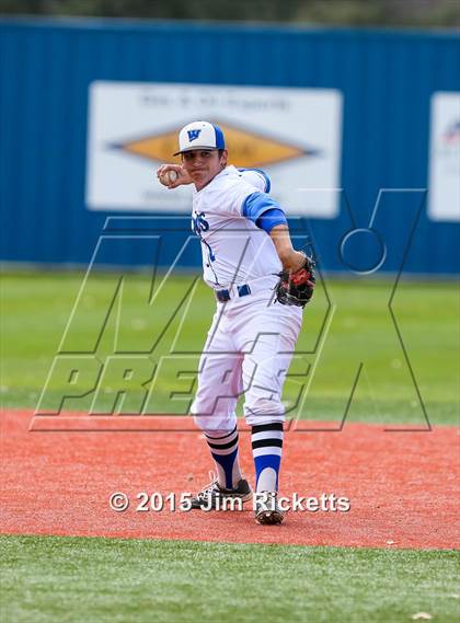
[[[200,429],[232,430],[241,394],[249,425],[284,422],[283,384],[301,327],[302,310],[273,302],[273,293],[267,287],[217,303],[192,405]]]

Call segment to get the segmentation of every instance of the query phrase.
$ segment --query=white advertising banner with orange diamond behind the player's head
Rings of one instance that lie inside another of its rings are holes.
[[[336,217],[342,94],[333,89],[93,82],[87,207],[187,212],[191,189],[170,192],[154,172],[180,162],[177,131],[193,120],[219,125],[229,163],[263,169],[288,215]]]

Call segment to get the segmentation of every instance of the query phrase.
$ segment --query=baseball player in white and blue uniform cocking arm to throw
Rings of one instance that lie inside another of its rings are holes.
[[[244,395],[255,465],[255,520],[280,523],[277,503],[283,448],[283,384],[313,293],[312,263],[292,249],[286,216],[258,170],[228,165],[222,130],[193,122],[179,135],[182,164],[157,171],[170,189],[193,184],[192,229],[199,238],[204,279],[216,312],[200,357],[192,405],[216,466],[193,508],[253,498],[241,473],[235,405]],[[281,276],[281,279],[280,279]],[[285,303],[285,304],[279,304]]]

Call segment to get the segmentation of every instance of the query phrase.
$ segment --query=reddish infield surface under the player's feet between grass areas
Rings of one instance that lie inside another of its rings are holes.
[[[32,414],[1,417],[1,532],[191,539],[244,543],[366,547],[459,546],[459,430],[389,432],[347,424],[338,431],[286,434],[281,493],[335,494],[348,512],[291,511],[280,527],[261,527],[242,512],[136,511],[139,492],[195,492],[211,466],[206,443],[189,419],[161,418],[164,430],[30,431]],[[49,419],[49,418],[48,418]],[[113,423],[114,417],[107,418]],[[65,418],[53,418],[66,428]],[[36,420],[35,420],[36,422]],[[82,420],[88,428],[88,418]],[[108,424],[107,424],[108,425]],[[119,428],[119,420],[117,423]],[[169,428],[188,430],[165,430]],[[253,474],[250,439],[241,434],[242,465]],[[126,493],[125,512],[110,508]],[[157,496],[158,499],[158,496]]]

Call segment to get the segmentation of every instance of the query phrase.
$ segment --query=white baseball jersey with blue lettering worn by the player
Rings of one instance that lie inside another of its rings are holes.
[[[205,281],[214,289],[246,284],[283,268],[271,236],[243,216],[253,193],[265,191],[265,178],[232,165],[193,193],[192,229],[199,236]]]

